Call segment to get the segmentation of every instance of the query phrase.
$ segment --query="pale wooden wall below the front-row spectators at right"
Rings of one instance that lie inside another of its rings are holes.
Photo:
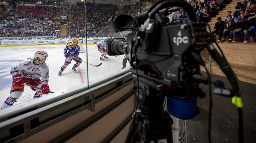
[[[250,84],[256,84],[256,48],[255,43],[218,43],[219,47],[223,51],[228,63],[234,70],[234,73],[238,77],[238,80],[244,81]],[[207,50],[201,52],[201,56],[209,61],[209,54]],[[210,73],[219,76],[226,77],[220,70],[219,65],[211,59],[211,65],[205,62],[206,67],[211,66]],[[201,71],[205,71],[203,67]]]

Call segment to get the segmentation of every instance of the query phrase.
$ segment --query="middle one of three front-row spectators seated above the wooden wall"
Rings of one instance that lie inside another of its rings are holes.
[[[223,38],[221,42],[226,41],[226,35],[229,34],[229,40],[228,42],[232,42],[233,39],[233,31],[236,28],[236,23],[232,20],[232,17],[227,17],[227,22],[224,24],[224,30],[223,30]]]

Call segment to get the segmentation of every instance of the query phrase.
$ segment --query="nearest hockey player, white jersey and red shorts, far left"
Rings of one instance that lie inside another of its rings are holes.
[[[23,60],[21,63],[18,63],[11,68],[11,76],[13,79],[11,84],[11,94],[6,101],[4,101],[1,109],[11,107],[16,100],[21,97],[25,84],[30,84],[43,89],[41,91],[31,87],[33,91],[36,91],[33,99],[40,98],[43,94],[49,93],[49,69],[45,63],[47,59],[47,52],[38,50],[35,52],[33,59]]]

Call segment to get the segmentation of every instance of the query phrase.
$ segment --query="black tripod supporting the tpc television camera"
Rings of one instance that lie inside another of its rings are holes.
[[[139,109],[125,143],[173,143],[172,118],[163,110],[166,92],[139,83]]]

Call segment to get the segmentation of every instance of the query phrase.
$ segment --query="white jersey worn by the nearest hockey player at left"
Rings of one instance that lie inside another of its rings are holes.
[[[11,68],[11,76],[21,74],[22,77],[27,78],[40,78],[42,84],[48,84],[49,81],[49,68],[46,63],[35,65],[33,61],[36,59],[26,59],[20,62],[18,65]]]

